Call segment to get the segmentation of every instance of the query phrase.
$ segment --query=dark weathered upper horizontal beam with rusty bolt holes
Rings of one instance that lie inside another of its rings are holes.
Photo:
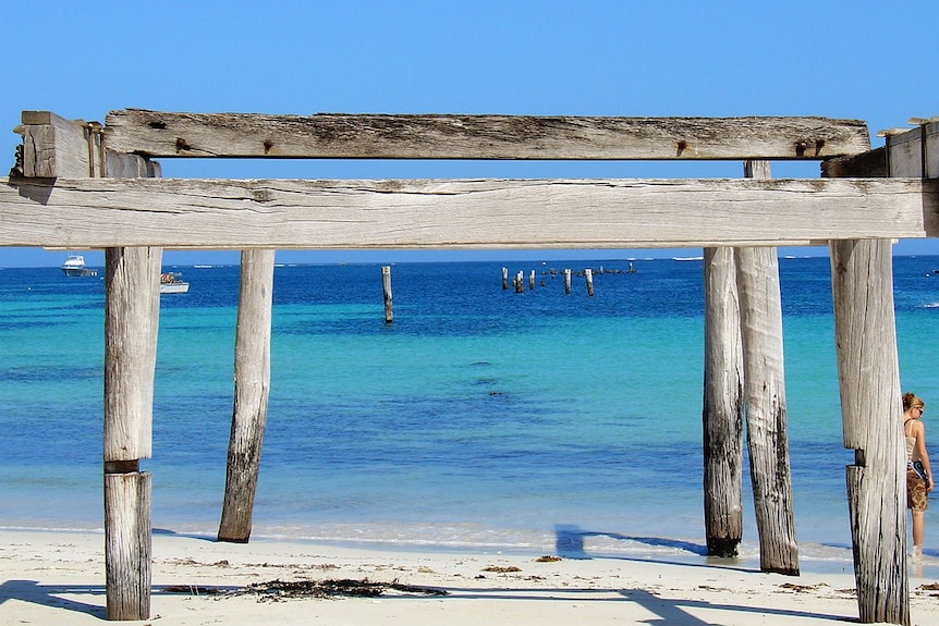
[[[150,157],[825,159],[870,149],[864,122],[812,116],[265,115],[111,111],[109,148]]]

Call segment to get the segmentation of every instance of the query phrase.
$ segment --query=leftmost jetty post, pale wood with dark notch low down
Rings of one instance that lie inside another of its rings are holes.
[[[150,475],[161,248],[105,250],[105,576],[108,619],[150,615]]]

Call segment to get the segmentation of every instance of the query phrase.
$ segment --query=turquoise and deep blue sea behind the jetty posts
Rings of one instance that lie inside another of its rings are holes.
[[[503,266],[524,272],[524,293],[502,290]],[[593,297],[576,275],[585,267]],[[570,295],[550,273],[564,268]],[[142,466],[156,531],[214,536],[239,268],[164,269],[191,289],[162,296],[154,455]],[[894,259],[902,388],[926,401],[939,462],[936,269],[939,257]],[[102,275],[0,270],[2,527],[102,527]],[[853,452],[841,438],[829,261],[782,258],[780,280],[800,553],[850,566]],[[379,265],[276,268],[254,537],[704,550],[699,258],[397,263],[392,286],[387,324]],[[756,554],[747,471],[743,551]],[[939,510],[926,538],[939,560]]]

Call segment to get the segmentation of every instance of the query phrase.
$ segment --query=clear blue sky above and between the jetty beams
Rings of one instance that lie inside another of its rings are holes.
[[[893,2],[3,2],[0,133],[22,110],[571,115],[825,115],[877,131],[939,114],[936,0]],[[873,136],[874,146],[882,140]],[[164,176],[740,176],[740,163],[431,163],[163,160]],[[2,165],[5,172],[7,165]],[[559,169],[561,168],[561,169]],[[775,176],[817,176],[815,163]],[[0,220],[2,225],[2,220]],[[936,240],[897,254],[939,254]],[[824,248],[806,248],[825,254]],[[658,256],[690,250],[657,250]],[[601,250],[598,258],[645,256]],[[167,251],[168,263],[206,253]],[[552,251],[546,258],[590,253]],[[93,259],[94,255],[89,255]],[[540,258],[537,253],[472,258]],[[0,248],[0,267],[63,253]],[[212,262],[236,261],[217,253]],[[279,253],[279,261],[434,254]]]

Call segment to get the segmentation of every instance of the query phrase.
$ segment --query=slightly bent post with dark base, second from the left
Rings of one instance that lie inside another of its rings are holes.
[[[247,543],[270,393],[275,250],[242,250],[234,356],[234,408],[218,540]]]

